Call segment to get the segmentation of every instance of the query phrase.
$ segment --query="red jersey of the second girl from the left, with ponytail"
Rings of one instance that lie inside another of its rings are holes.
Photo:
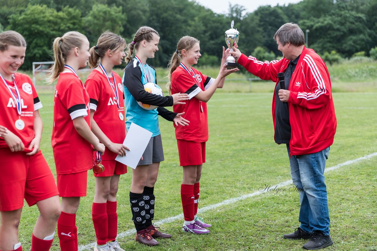
[[[74,73],[60,73],[51,138],[58,174],[83,172],[93,167],[92,145],[78,134],[72,122],[80,116],[84,116],[90,127],[89,95]]]

